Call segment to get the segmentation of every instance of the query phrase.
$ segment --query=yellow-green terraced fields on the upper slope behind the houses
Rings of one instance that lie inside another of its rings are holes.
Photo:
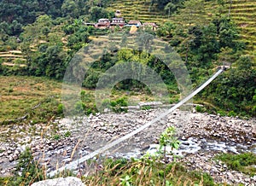
[[[188,1],[189,2],[189,1]],[[221,1],[219,1],[221,2]],[[199,22],[207,22],[211,20],[213,15],[229,15],[235,21],[236,25],[241,30],[241,39],[247,45],[245,53],[249,55],[256,54],[256,3],[254,0],[233,0],[230,7],[230,1],[223,1],[223,6],[217,0],[205,1],[200,5],[203,9],[193,9],[193,19]],[[151,0],[119,0],[110,3],[109,10],[120,10],[125,20],[141,20],[142,22],[155,22],[158,25],[165,23],[168,20],[187,24],[188,18],[181,17],[180,14],[168,16],[165,11],[157,9],[156,4],[151,4]],[[180,9],[183,14],[189,11],[189,8]],[[191,8],[192,9],[192,8]],[[229,11],[230,9],[230,11]],[[190,19],[192,19],[190,17]]]

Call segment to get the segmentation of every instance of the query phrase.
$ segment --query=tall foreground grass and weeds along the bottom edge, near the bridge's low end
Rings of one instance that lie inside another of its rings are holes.
[[[101,160],[101,162],[88,160],[86,166],[89,170],[80,170],[79,177],[85,185],[148,186],[163,185],[164,180],[166,180],[166,185],[217,185],[207,173],[188,171],[180,163],[165,164],[157,158],[113,160],[103,157]],[[20,155],[18,162],[14,177],[0,177],[0,185],[30,185],[48,178],[44,166],[39,166],[38,161],[33,160],[29,148],[26,148],[26,151]],[[163,170],[166,170],[166,174]],[[22,172],[21,175],[18,174],[19,171]],[[90,173],[84,175],[82,171],[90,171]],[[75,177],[76,175],[73,171],[66,170],[55,177],[68,176]]]

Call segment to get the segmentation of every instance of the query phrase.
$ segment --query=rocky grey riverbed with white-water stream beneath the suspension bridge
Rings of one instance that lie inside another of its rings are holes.
[[[98,113],[76,119],[55,119],[48,125],[3,126],[0,131],[0,175],[3,177],[11,174],[20,152],[26,146],[32,148],[35,158],[49,172],[55,170],[56,165],[63,166],[90,154],[164,112],[166,109],[159,108],[119,114]],[[176,127],[177,137],[182,142],[177,151],[183,157],[179,161],[186,162],[189,169],[207,171],[218,183],[256,183],[256,177],[230,171],[222,162],[213,160],[216,154],[222,152],[256,153],[255,119],[176,110],[104,154],[127,158],[140,156],[150,145],[157,143],[160,133],[171,125]],[[85,165],[81,166],[83,168]]]

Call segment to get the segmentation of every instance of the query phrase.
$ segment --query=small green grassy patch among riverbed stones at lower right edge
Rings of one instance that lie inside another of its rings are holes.
[[[231,170],[241,171],[251,177],[256,175],[256,154],[220,154],[216,159],[222,160]]]

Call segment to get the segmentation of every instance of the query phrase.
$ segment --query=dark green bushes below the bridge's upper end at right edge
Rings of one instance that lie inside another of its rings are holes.
[[[218,108],[241,116],[255,115],[253,96],[256,71],[253,69],[253,60],[248,55],[241,55],[236,66],[212,82],[206,88],[206,94]]]

